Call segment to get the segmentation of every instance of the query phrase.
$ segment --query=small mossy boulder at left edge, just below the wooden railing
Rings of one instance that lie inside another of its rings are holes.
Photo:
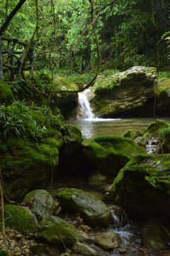
[[[0,104],[9,104],[13,100],[13,93],[6,82],[0,81]]]

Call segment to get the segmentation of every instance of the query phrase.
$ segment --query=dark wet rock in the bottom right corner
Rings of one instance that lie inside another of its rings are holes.
[[[170,247],[170,230],[160,220],[147,220],[142,225],[142,236],[145,246],[152,249],[168,249]]]

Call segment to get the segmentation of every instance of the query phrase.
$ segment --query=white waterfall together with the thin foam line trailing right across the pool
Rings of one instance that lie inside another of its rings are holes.
[[[117,119],[111,119],[111,118],[97,118],[94,116],[94,113],[91,110],[91,106],[88,100],[88,94],[90,92],[90,88],[84,90],[83,92],[79,92],[79,114],[78,119],[83,119],[86,121],[113,121]]]

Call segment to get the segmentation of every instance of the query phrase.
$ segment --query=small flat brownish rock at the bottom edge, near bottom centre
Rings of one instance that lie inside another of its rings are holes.
[[[76,242],[73,247],[72,247],[73,252],[75,253],[80,253],[81,255],[84,256],[96,256],[98,255],[98,252],[88,245],[84,245],[81,242]]]

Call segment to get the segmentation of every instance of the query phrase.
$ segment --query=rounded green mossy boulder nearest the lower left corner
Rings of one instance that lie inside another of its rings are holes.
[[[8,227],[21,233],[29,233],[38,229],[38,221],[29,208],[6,205],[4,211],[5,222]]]

